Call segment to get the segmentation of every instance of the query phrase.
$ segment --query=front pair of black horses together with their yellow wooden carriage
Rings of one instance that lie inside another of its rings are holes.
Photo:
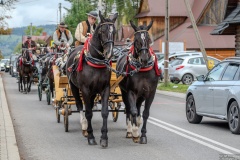
[[[52,104],[56,109],[57,122],[62,115],[67,132],[69,115],[79,112],[83,135],[87,136],[89,145],[96,145],[91,120],[93,112],[100,111],[103,118],[100,145],[105,148],[108,146],[109,112],[116,122],[121,111],[126,113],[126,137],[146,144],[146,124],[158,83],[157,60],[150,48],[148,34],[152,23],[137,27],[131,22],[135,31],[134,42],[130,51],[123,53],[116,63],[111,60],[117,14],[112,19],[104,18],[101,13],[99,17],[100,23],[85,42],[86,46],[75,48],[67,56],[67,62],[62,63],[64,67],[56,63],[51,67],[55,86]],[[121,102],[124,102],[125,109],[122,109]],[[141,112],[143,102],[145,105]],[[99,103],[101,110],[94,110]],[[76,105],[77,109],[72,110],[72,105]],[[141,115],[143,125],[140,135]]]

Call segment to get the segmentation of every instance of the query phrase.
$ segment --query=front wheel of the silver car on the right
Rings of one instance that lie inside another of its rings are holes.
[[[196,106],[193,95],[190,95],[187,98],[186,117],[189,123],[200,123],[202,121],[202,116],[199,116],[196,113]]]

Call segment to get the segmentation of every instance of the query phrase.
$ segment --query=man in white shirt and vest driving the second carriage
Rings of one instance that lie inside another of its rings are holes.
[[[53,41],[59,46],[62,41],[66,43],[66,47],[69,48],[73,43],[73,37],[70,30],[67,29],[67,25],[64,22],[59,24],[59,28],[53,33]]]

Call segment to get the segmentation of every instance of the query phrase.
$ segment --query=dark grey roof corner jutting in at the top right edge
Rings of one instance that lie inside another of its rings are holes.
[[[235,25],[240,23],[240,4],[211,32],[212,35],[235,35]]]

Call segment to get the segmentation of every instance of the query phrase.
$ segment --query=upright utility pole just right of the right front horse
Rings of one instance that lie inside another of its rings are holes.
[[[165,47],[164,47],[164,85],[168,84],[168,54],[169,54],[169,3],[165,0],[166,15],[165,15]]]

